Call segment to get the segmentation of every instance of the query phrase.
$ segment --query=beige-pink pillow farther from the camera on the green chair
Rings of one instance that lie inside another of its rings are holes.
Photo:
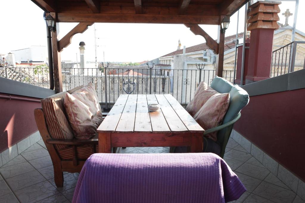
[[[205,82],[200,82],[199,86],[197,87],[194,93],[194,98],[190,101],[190,103],[188,103],[188,105],[185,108],[186,111],[191,116],[194,116],[203,106],[203,104],[205,104],[206,101],[210,99],[211,96],[217,93],[218,92],[216,90],[212,89]]]

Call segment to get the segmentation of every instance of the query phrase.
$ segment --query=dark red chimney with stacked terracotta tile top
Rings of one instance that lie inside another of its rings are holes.
[[[274,30],[278,29],[279,4],[281,2],[258,1],[249,6],[251,10],[248,13],[247,30],[251,34],[246,84],[270,78],[272,43]]]

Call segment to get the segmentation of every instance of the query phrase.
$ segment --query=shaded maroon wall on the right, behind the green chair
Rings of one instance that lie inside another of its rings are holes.
[[[234,129],[305,181],[305,89],[251,96]]]

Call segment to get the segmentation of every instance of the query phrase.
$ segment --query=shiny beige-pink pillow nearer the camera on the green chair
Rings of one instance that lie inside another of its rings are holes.
[[[214,94],[206,101],[205,104],[200,108],[200,110],[195,114],[194,119],[197,123],[205,130],[217,127],[222,124],[224,115],[227,113],[230,103],[230,94]],[[205,135],[217,141],[217,132]]]

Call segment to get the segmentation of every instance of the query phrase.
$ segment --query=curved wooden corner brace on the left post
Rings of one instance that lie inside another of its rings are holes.
[[[68,32],[61,40],[58,42],[58,51],[63,51],[63,48],[66,48],[71,44],[72,37],[77,33],[83,33],[88,29],[88,26],[91,26],[92,22],[78,23],[70,32]]]

